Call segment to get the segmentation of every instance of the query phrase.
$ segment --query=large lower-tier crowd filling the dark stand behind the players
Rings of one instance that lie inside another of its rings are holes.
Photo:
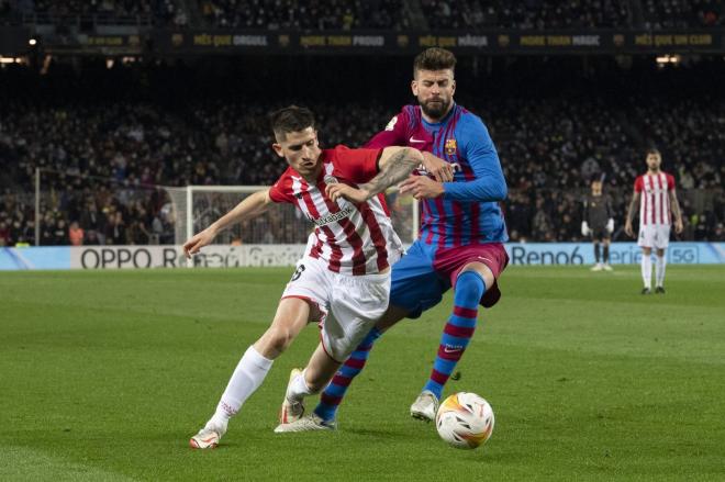
[[[3,75],[10,74],[0,71],[0,82]],[[604,178],[621,228],[634,179],[645,169],[644,148],[651,144],[678,182],[682,238],[724,239],[725,101],[673,94],[667,86],[679,90],[677,76],[652,75],[649,94],[632,91],[617,102],[605,92],[533,100],[493,88],[466,98],[461,90],[458,100],[483,117],[497,144],[510,187],[504,210],[512,239],[580,239],[581,199],[594,177]],[[0,96],[1,244],[34,242],[36,168],[43,169],[40,233],[46,245],[81,242],[78,232],[70,235],[74,223],[85,232],[83,244],[174,243],[174,209],[159,186],[268,184],[285,169],[270,150],[265,114],[293,98],[250,92],[178,103],[153,94],[92,97],[64,102],[54,96]],[[360,146],[404,102],[372,96],[350,103],[317,93],[305,103],[319,116],[323,146]],[[286,242],[293,233],[270,235]],[[625,239],[618,229],[617,238]]]

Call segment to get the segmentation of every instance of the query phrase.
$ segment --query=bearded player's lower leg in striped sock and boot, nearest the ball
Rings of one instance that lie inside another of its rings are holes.
[[[484,292],[486,283],[478,272],[464,271],[458,276],[453,314],[443,330],[431,378],[411,405],[411,416],[425,421],[435,418],[443,386],[476,330],[478,304]]]

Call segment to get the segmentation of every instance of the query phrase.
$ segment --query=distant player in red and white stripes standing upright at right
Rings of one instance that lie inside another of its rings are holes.
[[[624,231],[634,236],[632,222],[639,204],[639,236],[642,247],[642,279],[645,287],[642,294],[651,293],[652,261],[651,250],[656,249],[655,281],[657,293],[665,293],[665,250],[670,242],[670,226],[674,217],[674,232],[682,233],[682,211],[677,201],[674,178],[660,169],[662,156],[657,149],[647,152],[647,172],[635,180],[634,194],[627,211]]]

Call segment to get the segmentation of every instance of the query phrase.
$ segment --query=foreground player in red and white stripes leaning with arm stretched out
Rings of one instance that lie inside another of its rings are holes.
[[[216,411],[189,444],[214,448],[235,415],[266,378],[272,361],[310,322],[321,343],[302,372],[292,372],[281,417],[302,411],[386,312],[390,265],[401,243],[376,194],[408,177],[423,160],[409,147],[320,149],[314,116],[289,107],[271,114],[275,152],[289,164],[271,188],[258,191],[183,245],[187,257],[211,244],[221,229],[253,218],[275,202],[294,204],[315,224],[306,253],[287,284],[269,328],[239,360]],[[357,202],[331,199],[337,182],[358,186]]]

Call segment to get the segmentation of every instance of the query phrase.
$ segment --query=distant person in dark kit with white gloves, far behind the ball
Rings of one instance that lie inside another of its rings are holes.
[[[592,237],[594,244],[594,259],[596,265],[592,271],[612,271],[610,266],[610,239],[614,231],[614,217],[612,211],[612,200],[609,195],[602,194],[602,179],[596,178],[592,181],[592,191],[584,199],[584,212],[581,222],[582,236]],[[600,245],[602,253],[600,258]],[[600,259],[603,261],[601,262]]]

